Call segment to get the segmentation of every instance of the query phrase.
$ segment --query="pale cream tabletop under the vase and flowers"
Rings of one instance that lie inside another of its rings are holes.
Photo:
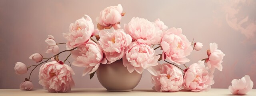
[[[50,93],[44,89],[22,91],[20,89],[0,89],[0,96],[235,96],[228,89],[210,89],[207,92],[154,92],[151,89],[134,89],[130,92],[108,92],[106,89],[72,89],[67,93]],[[245,96],[256,96],[256,89]]]

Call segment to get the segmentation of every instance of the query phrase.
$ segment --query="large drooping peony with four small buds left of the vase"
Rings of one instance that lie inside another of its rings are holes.
[[[29,57],[29,59],[33,60],[36,63],[41,62],[43,59],[52,60],[52,62],[47,62],[48,60],[46,60],[40,63],[45,64],[41,66],[39,71],[39,84],[44,86],[44,89],[48,90],[48,92],[69,92],[72,86],[74,86],[74,81],[72,78],[72,75],[74,75],[74,71],[70,66],[58,60],[58,55],[56,54],[60,54],[59,47],[58,44],[56,44],[54,37],[52,35],[48,35],[48,38],[45,40],[45,42],[48,44],[48,50],[46,51],[46,53],[54,54],[52,58],[43,58],[43,56],[39,53],[32,54]],[[35,66],[36,68],[40,64],[32,66]],[[28,72],[28,69],[32,66],[27,67],[24,63],[17,62],[15,64],[14,70],[16,74],[25,74]],[[33,89],[34,86],[32,82],[29,80],[30,76],[20,84],[20,90]]]

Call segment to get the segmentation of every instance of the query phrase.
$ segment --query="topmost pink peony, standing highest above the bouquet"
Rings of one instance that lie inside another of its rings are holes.
[[[102,26],[113,26],[114,29],[119,29],[119,22],[122,18],[123,8],[121,4],[118,6],[110,6],[100,11],[100,16],[96,18],[96,22]]]

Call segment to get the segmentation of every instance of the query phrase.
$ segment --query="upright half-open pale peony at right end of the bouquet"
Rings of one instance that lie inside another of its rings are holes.
[[[218,50],[218,45],[216,43],[210,43],[210,50],[207,50],[207,55],[209,58],[207,58],[206,63],[208,68],[214,72],[214,68],[217,68],[218,70],[222,71],[222,59],[225,56],[225,54]]]

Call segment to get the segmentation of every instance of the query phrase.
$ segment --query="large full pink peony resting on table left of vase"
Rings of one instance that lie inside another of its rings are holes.
[[[40,67],[39,84],[48,92],[69,92],[74,86],[72,74],[72,68],[63,62],[48,62]]]

